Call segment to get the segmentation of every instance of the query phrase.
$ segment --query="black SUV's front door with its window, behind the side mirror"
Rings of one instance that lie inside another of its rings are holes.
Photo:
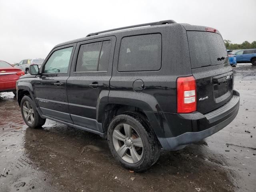
[[[76,44],[58,47],[44,62],[34,86],[42,113],[51,118],[71,122],[68,110],[67,79]]]

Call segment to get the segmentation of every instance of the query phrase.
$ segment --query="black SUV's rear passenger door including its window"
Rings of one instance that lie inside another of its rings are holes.
[[[74,124],[102,132],[96,108],[108,102],[116,38],[80,42],[67,80],[70,116]]]

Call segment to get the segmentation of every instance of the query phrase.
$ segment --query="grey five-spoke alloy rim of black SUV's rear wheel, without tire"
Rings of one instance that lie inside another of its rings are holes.
[[[143,142],[138,132],[128,124],[114,128],[113,144],[117,154],[128,163],[137,163],[143,156]]]

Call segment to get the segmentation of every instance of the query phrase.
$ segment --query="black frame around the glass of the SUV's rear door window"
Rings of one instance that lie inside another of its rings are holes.
[[[86,45],[86,44],[91,44],[91,43],[97,43],[97,42],[101,42],[101,46],[100,46],[100,52],[102,50],[102,45],[103,45],[103,42],[104,41],[109,41],[110,40],[110,50],[111,50],[111,46],[112,46],[112,39],[111,38],[106,38],[106,39],[95,39],[95,40],[88,40],[89,42],[80,42],[78,43],[78,50],[77,50],[77,53],[76,53],[76,57],[75,57],[75,64],[74,64],[74,69],[73,69],[73,73],[74,74],[79,74],[79,73],[107,73],[107,71],[76,71],[76,65],[77,65],[77,59],[78,59],[78,54],[79,54],[79,50],[80,50],[80,47],[82,45]],[[110,50],[109,50],[109,53],[108,53],[108,64],[109,64],[109,56],[110,56]],[[100,54],[100,53],[99,53]],[[100,57],[98,58],[98,64],[97,64],[97,69],[99,67],[99,60],[100,60]]]

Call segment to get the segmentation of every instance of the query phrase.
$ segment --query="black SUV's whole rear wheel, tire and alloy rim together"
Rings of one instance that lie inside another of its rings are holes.
[[[108,144],[114,158],[129,170],[148,169],[160,156],[156,135],[142,116],[120,114],[108,127]]]

